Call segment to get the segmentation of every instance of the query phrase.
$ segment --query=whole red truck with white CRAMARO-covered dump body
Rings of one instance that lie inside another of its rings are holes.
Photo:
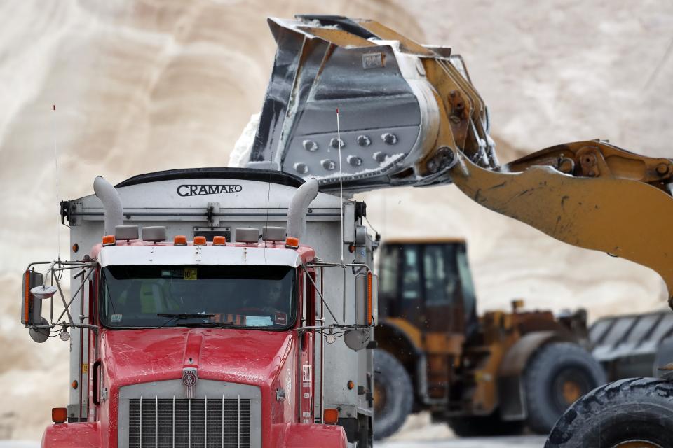
[[[278,172],[201,171],[97,178],[63,204],[72,261],[25,277],[34,339],[73,332],[70,403],[43,447],[369,446],[376,280],[355,203]],[[48,322],[66,270],[67,318]]]

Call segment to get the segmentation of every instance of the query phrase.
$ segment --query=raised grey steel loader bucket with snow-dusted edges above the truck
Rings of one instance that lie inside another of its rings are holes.
[[[493,165],[485,106],[450,49],[419,45],[372,20],[304,15],[268,23],[278,50],[254,143],[239,163],[271,162],[318,179],[323,191],[340,182],[348,191],[449,183],[450,147],[465,141],[479,141],[475,160]],[[451,130],[440,130],[444,102],[455,104]]]

